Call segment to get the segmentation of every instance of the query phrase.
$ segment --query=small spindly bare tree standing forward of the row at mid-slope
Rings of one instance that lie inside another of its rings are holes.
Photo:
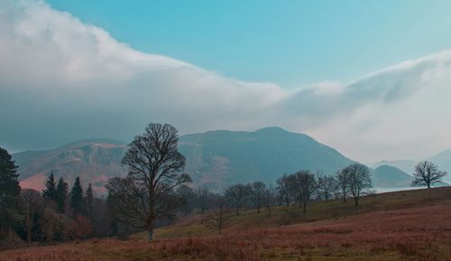
[[[217,233],[221,234],[222,230],[230,224],[229,221],[233,215],[232,211],[227,207],[225,196],[219,195],[216,197],[215,201],[216,208],[209,211],[204,222],[207,226],[216,228]]]

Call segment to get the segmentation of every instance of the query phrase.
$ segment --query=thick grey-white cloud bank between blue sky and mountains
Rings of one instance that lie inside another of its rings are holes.
[[[449,98],[451,51],[283,89],[135,51],[43,2],[0,2],[0,145],[13,151],[128,142],[166,122],[182,134],[281,126],[364,163],[418,159],[451,148]]]

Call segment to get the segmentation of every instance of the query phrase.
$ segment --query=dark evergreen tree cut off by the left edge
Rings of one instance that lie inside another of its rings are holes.
[[[0,147],[0,238],[18,221],[21,187],[17,166],[8,152]]]

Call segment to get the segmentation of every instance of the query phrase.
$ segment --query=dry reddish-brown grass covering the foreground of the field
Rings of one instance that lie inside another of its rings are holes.
[[[186,224],[184,224],[186,225]],[[79,244],[0,252],[0,260],[412,260],[451,261],[451,201],[378,210],[280,228],[228,230],[224,236]]]

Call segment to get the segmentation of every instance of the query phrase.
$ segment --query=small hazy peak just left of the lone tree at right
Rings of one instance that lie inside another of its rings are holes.
[[[382,165],[372,171],[373,186],[376,188],[410,187],[412,176],[400,169]]]

